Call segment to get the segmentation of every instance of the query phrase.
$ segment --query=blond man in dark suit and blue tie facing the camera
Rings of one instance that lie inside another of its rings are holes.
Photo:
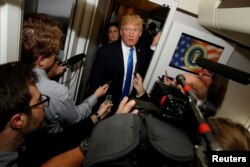
[[[120,24],[121,40],[110,45],[103,46],[97,50],[96,58],[92,65],[92,72],[89,80],[89,94],[103,85],[110,82],[107,95],[112,95],[114,106],[112,111],[116,111],[117,106],[124,96],[125,81],[131,75],[132,79],[129,86],[129,93],[133,94],[133,74],[139,73],[145,76],[153,51],[145,47],[143,43],[138,42],[142,33],[143,20],[138,15],[123,16]],[[132,73],[128,70],[128,57],[130,48],[133,48],[133,67]],[[103,101],[104,99],[99,99]]]

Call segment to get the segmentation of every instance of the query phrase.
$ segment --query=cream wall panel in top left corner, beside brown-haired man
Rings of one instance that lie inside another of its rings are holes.
[[[0,0],[0,64],[19,60],[23,0]]]

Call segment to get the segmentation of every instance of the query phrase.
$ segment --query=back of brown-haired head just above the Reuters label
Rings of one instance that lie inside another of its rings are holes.
[[[214,142],[222,151],[235,151],[235,153],[250,151],[250,133],[243,124],[223,117],[210,117],[208,123],[214,135]],[[194,153],[194,166],[207,167],[206,145],[196,146]]]

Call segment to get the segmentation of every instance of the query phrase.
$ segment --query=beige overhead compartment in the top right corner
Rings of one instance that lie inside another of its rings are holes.
[[[203,0],[198,23],[226,38],[250,47],[249,0]]]

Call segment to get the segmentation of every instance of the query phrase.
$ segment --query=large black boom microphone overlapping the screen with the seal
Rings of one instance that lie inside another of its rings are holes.
[[[247,85],[250,83],[250,74],[224,64],[216,63],[203,57],[198,57],[195,63],[214,73],[220,74],[223,77],[232,79],[241,84]]]

